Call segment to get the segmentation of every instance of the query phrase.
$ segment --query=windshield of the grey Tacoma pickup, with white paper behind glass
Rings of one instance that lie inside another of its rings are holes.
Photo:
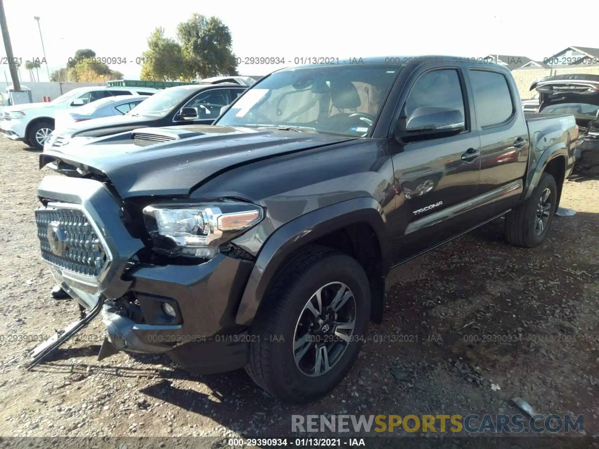
[[[246,90],[214,125],[365,136],[397,71],[397,66],[344,65],[274,72]]]

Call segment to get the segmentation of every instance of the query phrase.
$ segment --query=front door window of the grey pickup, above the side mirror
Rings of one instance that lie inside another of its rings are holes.
[[[404,113],[409,117],[416,108],[440,107],[458,110],[464,114],[464,95],[458,71],[441,69],[426,72],[412,86],[406,99]]]

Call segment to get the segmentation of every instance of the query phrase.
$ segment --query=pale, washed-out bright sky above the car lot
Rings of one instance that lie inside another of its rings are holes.
[[[497,6],[501,10],[497,11]],[[538,2],[302,2],[121,0],[99,3],[71,0],[4,2],[15,57],[23,63],[43,57],[34,16],[40,16],[50,72],[66,64],[78,48],[97,56],[124,57],[111,68],[139,79],[136,57],[156,26],[175,37],[176,26],[192,13],[217,16],[229,26],[239,57],[365,57],[447,54],[481,57],[516,54],[542,60],[568,45],[599,47],[594,26],[564,27],[555,8]],[[512,13],[511,11],[517,11]],[[544,32],[542,25],[547,26]],[[6,56],[4,46],[0,56]],[[2,62],[5,62],[3,60]],[[243,75],[263,75],[285,65],[240,65]],[[8,73],[8,65],[4,65]],[[4,75],[0,75],[4,81]],[[29,76],[22,69],[23,81]],[[47,81],[46,69],[40,69]]]

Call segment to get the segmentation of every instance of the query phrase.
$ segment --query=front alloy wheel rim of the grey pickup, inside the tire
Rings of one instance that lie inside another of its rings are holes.
[[[344,283],[328,283],[308,299],[295,324],[293,356],[302,374],[329,372],[352,342],[356,299]]]

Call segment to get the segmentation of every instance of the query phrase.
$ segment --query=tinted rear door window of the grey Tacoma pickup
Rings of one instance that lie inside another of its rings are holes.
[[[470,70],[474,92],[474,110],[479,126],[498,125],[516,110],[506,77],[497,72]]]

